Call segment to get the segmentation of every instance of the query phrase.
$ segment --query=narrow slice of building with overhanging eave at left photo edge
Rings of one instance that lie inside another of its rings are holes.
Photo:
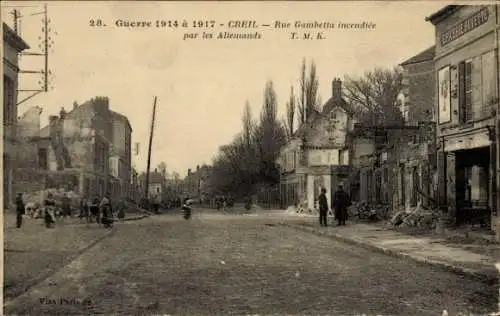
[[[19,54],[28,44],[3,23],[3,201],[8,207],[14,197],[13,178],[17,148],[17,91]]]

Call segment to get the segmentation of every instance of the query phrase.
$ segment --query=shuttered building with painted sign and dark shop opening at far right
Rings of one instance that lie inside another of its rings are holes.
[[[443,224],[498,220],[498,5],[449,5],[436,30],[439,188]]]

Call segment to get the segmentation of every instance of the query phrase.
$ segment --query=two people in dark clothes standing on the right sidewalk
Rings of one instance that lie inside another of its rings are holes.
[[[335,219],[339,226],[343,226],[347,220],[347,208],[351,205],[351,198],[347,192],[344,191],[342,185],[333,194],[332,209],[334,210]],[[326,198],[326,189],[321,189],[321,194],[318,197],[319,206],[319,224],[321,226],[328,226],[328,200]]]

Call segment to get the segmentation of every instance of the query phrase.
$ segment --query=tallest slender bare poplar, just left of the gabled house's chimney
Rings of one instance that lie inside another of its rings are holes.
[[[309,75],[307,76],[306,73],[306,61],[303,59],[299,78],[300,94],[297,100],[300,124],[304,123],[314,110],[319,111],[321,107],[318,99],[319,82],[314,61],[311,61]]]

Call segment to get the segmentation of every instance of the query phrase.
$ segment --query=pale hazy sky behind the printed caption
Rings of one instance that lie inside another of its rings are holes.
[[[52,89],[19,107],[22,114],[41,106],[42,126],[61,107],[71,109],[95,96],[107,96],[110,106],[129,118],[133,157],[145,170],[153,99],[158,97],[152,167],[165,162],[168,171],[182,175],[188,168],[211,163],[218,148],[241,130],[248,101],[257,117],[268,80],[284,116],[290,87],[298,87],[303,58],[314,60],[319,95],[331,96],[334,77],[358,76],[375,67],[393,67],[434,44],[434,27],[425,17],[449,2],[49,2],[49,54]],[[20,10],[23,39],[38,50],[42,35],[43,3],[2,3],[2,20],[13,25]],[[105,27],[90,26],[101,20]],[[151,21],[152,27],[118,27],[117,20]],[[156,28],[156,21],[186,20],[188,28]],[[215,21],[212,30],[193,28],[193,21]],[[290,29],[260,27],[229,29],[235,20],[260,24],[290,22]],[[371,30],[296,30],[302,22],[374,23]],[[220,26],[224,24],[224,26]],[[261,39],[188,39],[185,34],[258,31]],[[322,40],[292,40],[291,32],[323,32]],[[43,59],[22,57],[21,69],[40,70]],[[36,89],[39,77],[23,74],[20,89]],[[19,95],[19,99],[28,96]]]

